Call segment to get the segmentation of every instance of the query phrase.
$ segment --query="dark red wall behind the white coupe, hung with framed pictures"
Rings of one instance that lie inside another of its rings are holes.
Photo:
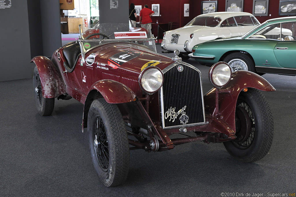
[[[172,29],[183,27],[194,17],[202,14],[201,13],[201,0],[129,0],[129,4],[134,3],[135,5],[147,4],[148,8],[151,9],[152,4],[159,4],[160,14],[159,17],[151,17],[152,22],[158,20],[159,23],[173,22]],[[184,4],[189,4],[189,17],[184,17]],[[253,0],[244,0],[243,12],[252,13]],[[218,12],[225,11],[225,0],[218,0]],[[271,16],[269,16],[271,14]],[[264,22],[268,19],[282,17],[279,16],[279,0],[269,0],[268,5],[268,16],[260,17],[256,16],[259,22]],[[137,17],[139,21],[139,17]]]

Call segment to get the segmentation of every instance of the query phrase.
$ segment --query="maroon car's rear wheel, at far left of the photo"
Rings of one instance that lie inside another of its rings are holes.
[[[43,98],[41,79],[37,66],[34,68],[33,74],[33,88],[34,88],[34,100],[36,104],[37,111],[42,116],[51,115],[54,110],[54,98]]]

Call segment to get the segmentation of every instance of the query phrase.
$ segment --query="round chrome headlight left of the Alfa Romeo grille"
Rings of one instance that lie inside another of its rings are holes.
[[[156,92],[163,85],[163,72],[158,67],[149,66],[140,73],[139,84],[149,94]]]

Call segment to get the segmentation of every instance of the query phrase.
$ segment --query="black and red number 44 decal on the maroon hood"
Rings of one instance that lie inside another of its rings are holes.
[[[108,59],[108,65],[112,69],[118,69],[119,66],[121,66],[123,63],[126,63],[127,61],[129,61],[135,57],[138,57],[142,54],[143,54],[143,52],[141,52],[141,51],[123,51],[123,52],[115,54],[114,56],[111,56]]]

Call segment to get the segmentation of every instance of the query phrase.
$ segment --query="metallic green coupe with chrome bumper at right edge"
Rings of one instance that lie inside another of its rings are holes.
[[[243,36],[201,43],[192,52],[188,56],[202,65],[225,61],[232,71],[296,75],[296,17],[267,20]]]

